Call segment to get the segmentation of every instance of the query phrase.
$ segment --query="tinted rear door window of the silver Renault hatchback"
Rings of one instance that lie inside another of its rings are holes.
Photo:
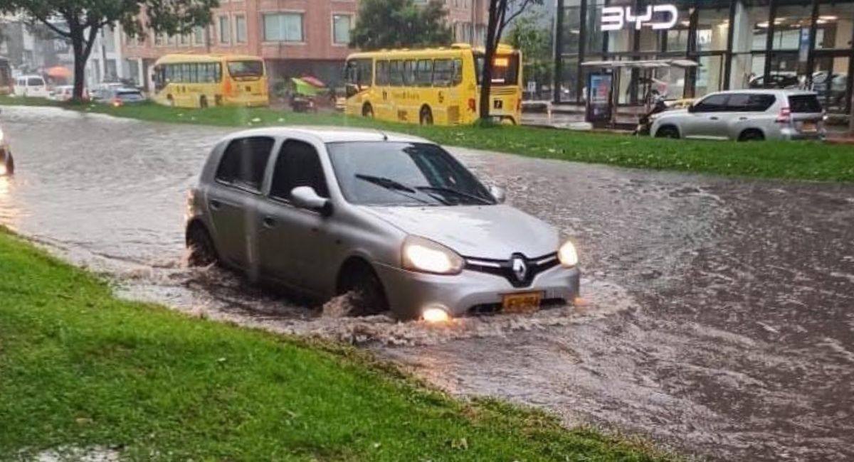
[[[272,145],[273,139],[266,136],[231,141],[219,161],[217,181],[260,192]]]

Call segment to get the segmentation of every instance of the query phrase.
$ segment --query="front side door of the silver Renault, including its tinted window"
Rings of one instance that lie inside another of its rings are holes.
[[[302,291],[324,294],[334,272],[328,218],[290,201],[294,188],[309,186],[328,198],[323,166],[317,149],[306,141],[282,143],[272,170],[270,191],[258,208],[261,270],[265,275]]]

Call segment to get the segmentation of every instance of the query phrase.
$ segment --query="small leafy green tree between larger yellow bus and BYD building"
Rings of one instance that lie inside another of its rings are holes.
[[[524,76],[536,84],[539,93],[542,85],[552,81],[552,32],[543,27],[543,14],[526,14],[513,21],[507,32],[507,43],[522,50]]]

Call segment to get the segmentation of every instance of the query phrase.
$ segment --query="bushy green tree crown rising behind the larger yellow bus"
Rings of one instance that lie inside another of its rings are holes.
[[[413,0],[361,0],[350,46],[371,50],[449,45],[453,34],[446,17],[442,0],[424,6]]]

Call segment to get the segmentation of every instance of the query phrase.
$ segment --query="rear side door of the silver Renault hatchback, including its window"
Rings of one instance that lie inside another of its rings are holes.
[[[219,257],[240,269],[254,271],[258,267],[255,207],[273,144],[268,136],[231,140],[206,194]]]

